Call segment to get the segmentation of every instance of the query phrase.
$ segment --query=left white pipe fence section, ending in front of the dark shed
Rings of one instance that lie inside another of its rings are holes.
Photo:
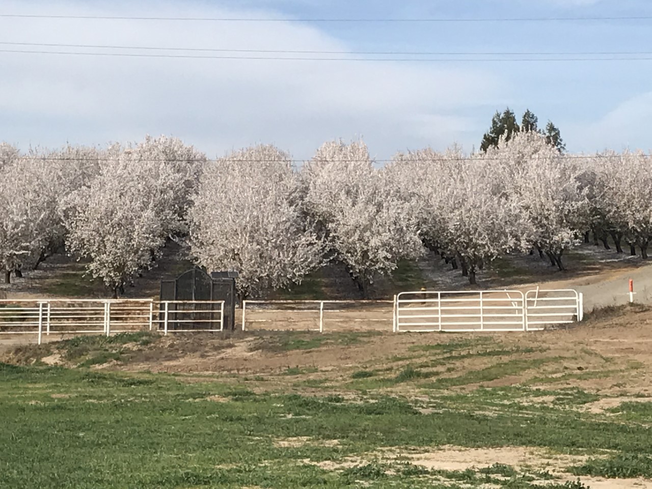
[[[0,300],[0,335],[106,334],[161,330],[222,331],[224,301],[151,299]]]

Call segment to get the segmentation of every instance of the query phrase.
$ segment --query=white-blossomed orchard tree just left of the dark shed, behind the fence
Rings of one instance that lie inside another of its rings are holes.
[[[100,171],[61,205],[70,254],[117,295],[154,265],[166,240],[186,232],[186,211],[205,160],[165,137],[136,147],[111,145]]]

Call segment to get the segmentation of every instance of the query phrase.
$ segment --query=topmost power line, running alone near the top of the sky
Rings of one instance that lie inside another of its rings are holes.
[[[211,17],[126,17],[126,16],[95,16],[95,15],[40,15],[40,14],[0,14],[6,18],[38,18],[38,19],[82,19],[82,20],[173,20],[202,22],[364,22],[364,23],[400,23],[400,22],[596,22],[614,20],[652,20],[652,16],[608,16],[608,17],[521,17],[521,18],[411,18],[411,19],[363,19],[363,18],[211,18]]]

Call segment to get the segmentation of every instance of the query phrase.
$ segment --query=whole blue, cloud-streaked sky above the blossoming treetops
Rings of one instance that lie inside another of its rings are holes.
[[[304,159],[324,141],[363,138],[372,155],[381,159],[428,146],[443,150],[453,143],[471,151],[479,147],[492,115],[507,106],[519,117],[526,109],[533,111],[540,125],[552,120],[574,153],[652,149],[652,20],[310,21],[652,16],[649,0],[0,0],[0,14],[280,21],[0,16],[0,50],[5,51],[340,58],[0,52],[0,141],[21,149],[105,145],[165,134],[195,145],[209,157],[272,143]],[[477,61],[479,55],[143,51],[6,43],[525,53],[512,56],[521,58],[560,57],[528,54],[542,52],[637,52],[649,54],[635,57],[649,59],[497,62]],[[411,61],[353,60],[364,57]],[[461,58],[467,61],[458,61]]]

